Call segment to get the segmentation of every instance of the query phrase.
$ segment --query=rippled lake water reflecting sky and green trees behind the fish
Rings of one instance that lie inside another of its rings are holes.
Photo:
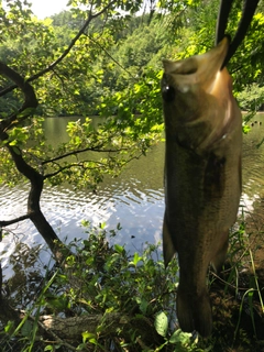
[[[72,119],[46,119],[45,133],[48,140],[65,141],[64,131],[69,120]],[[244,135],[241,205],[249,211],[255,228],[262,231],[264,144],[260,148],[256,145],[264,136],[264,116],[257,116],[254,120],[261,121],[262,124],[255,123],[251,132]],[[164,143],[161,142],[146,157],[133,161],[119,178],[106,178],[97,194],[86,189],[74,191],[69,187],[46,187],[41,201],[42,210],[65,242],[75,238],[87,238],[85,229],[80,226],[81,220],[89,220],[95,226],[107,222],[108,229],[114,229],[120,222],[122,230],[111,239],[111,243],[127,244],[129,251],[141,252],[145,242],[158,243],[162,239],[163,165]],[[0,187],[1,219],[24,215],[26,196],[26,187]],[[30,221],[12,226],[9,230],[10,234],[0,243],[6,279],[15,272],[12,264],[14,261],[23,262],[28,268],[33,262],[40,268],[50,262],[51,253]],[[21,246],[20,242],[24,245]]]

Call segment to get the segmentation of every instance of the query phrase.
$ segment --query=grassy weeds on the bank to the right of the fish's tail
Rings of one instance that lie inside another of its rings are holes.
[[[264,268],[255,267],[255,252],[263,245],[257,229],[249,226],[250,213],[242,213],[230,231],[227,261],[218,276],[210,272],[215,329],[200,345],[213,352],[264,351]],[[262,243],[262,244],[261,244]]]

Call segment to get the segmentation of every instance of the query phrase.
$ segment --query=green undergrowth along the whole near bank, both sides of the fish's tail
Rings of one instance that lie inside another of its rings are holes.
[[[264,309],[243,219],[231,233],[222,274],[209,275],[215,329],[208,340],[197,333],[185,333],[177,326],[176,260],[165,268],[156,245],[146,243],[142,253],[133,254],[124,245],[110,245],[108,239],[117,235],[120,226],[110,231],[103,224],[94,228],[84,222],[82,226],[87,239],[73,241],[72,254],[65,263],[46,271],[31,296],[31,304],[20,307],[19,326],[11,321],[2,326],[1,351],[220,352],[248,351],[248,348],[251,351],[252,339],[257,341],[256,301]],[[241,285],[245,265],[251,267],[252,275]],[[245,306],[252,338],[241,323]],[[86,317],[95,317],[96,323],[94,320],[87,323]],[[47,318],[68,320],[74,326],[67,334],[59,320],[57,327],[50,329],[45,323]],[[260,339],[257,343],[261,345]]]

